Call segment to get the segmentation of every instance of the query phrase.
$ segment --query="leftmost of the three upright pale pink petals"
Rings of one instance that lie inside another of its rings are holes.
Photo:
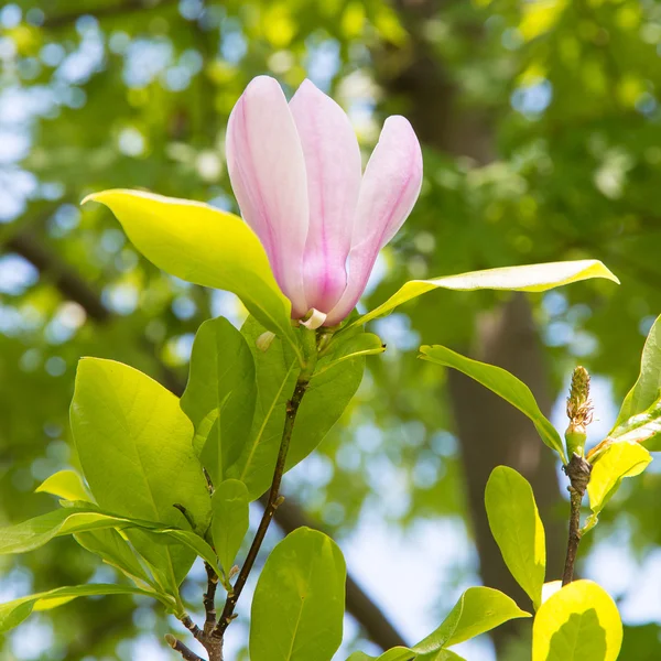
[[[307,182],[301,140],[280,85],[258,76],[229,116],[227,165],[243,219],[262,242],[273,274],[292,302],[308,305],[303,286],[307,237]]]

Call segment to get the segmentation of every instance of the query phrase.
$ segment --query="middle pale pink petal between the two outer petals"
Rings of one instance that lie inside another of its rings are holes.
[[[346,262],[360,189],[360,149],[345,111],[310,80],[290,101],[305,155],[310,228],[305,243],[305,296],[329,311],[347,284]]]

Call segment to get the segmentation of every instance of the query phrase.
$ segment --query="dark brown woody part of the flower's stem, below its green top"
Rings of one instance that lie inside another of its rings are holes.
[[[275,470],[273,473],[273,480],[269,491],[269,499],[267,501],[267,506],[264,507],[264,513],[262,514],[259,528],[257,529],[257,533],[252,540],[250,550],[248,551],[246,562],[239,572],[239,576],[235,583],[232,592],[227,596],[225,607],[223,608],[223,614],[220,615],[218,625],[214,630],[214,636],[217,638],[223,638],[225,630],[236,617],[234,611],[237,602],[241,596],[246,581],[248,581],[250,571],[254,565],[257,554],[259,553],[262,542],[264,541],[264,537],[267,535],[267,530],[269,530],[273,514],[281,502],[280,485],[282,483],[282,475],[284,474],[284,463],[286,460],[286,454],[289,451],[290,441],[292,438],[292,432],[294,430],[294,422],[296,421],[296,413],[299,412],[299,407],[301,405],[301,401],[303,400],[303,395],[307,390],[308,383],[310,373],[307,370],[302,370],[296,381],[296,387],[294,388],[292,399],[286,404],[286,418],[284,420],[284,429],[282,430],[282,441],[280,442],[280,451],[278,453],[278,460],[275,463]]]

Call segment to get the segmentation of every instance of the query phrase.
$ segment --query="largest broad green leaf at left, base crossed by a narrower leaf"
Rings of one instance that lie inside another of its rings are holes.
[[[78,364],[71,418],[80,465],[104,510],[187,529],[178,505],[204,533],[210,498],[193,425],[171,392],[121,362],[86,358]],[[155,548],[139,530],[129,538],[174,592],[194,561],[191,551],[170,541]]]

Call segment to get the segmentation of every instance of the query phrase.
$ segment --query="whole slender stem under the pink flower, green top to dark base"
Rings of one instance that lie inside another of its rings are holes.
[[[301,407],[301,402],[303,401],[303,395],[305,394],[305,392],[307,391],[307,387],[310,386],[310,379],[314,373],[317,358],[315,332],[302,326],[301,339],[303,345],[303,353],[305,355],[305,360],[303,362],[303,368],[299,373],[299,378],[296,379],[296,386],[294,387],[293,394],[286,403],[286,414],[284,419],[284,427],[282,430],[282,440],[280,442],[280,449],[278,452],[278,459],[275,462],[275,469],[273,472],[273,479],[271,481],[269,497],[264,507],[264,512],[262,514],[261,521],[257,529],[257,533],[254,534],[254,539],[252,540],[252,544],[250,545],[250,550],[248,551],[248,555],[246,556],[246,561],[243,562],[243,566],[239,572],[232,590],[227,595],[225,607],[223,608],[223,613],[220,614],[218,625],[214,630],[213,636],[219,639],[223,638],[225,630],[227,629],[231,620],[236,617],[235,608],[237,602],[241,596],[241,592],[243,590],[246,582],[248,581],[248,576],[250,575],[250,572],[254,565],[254,561],[257,560],[259,550],[262,545],[262,542],[264,541],[267,531],[269,530],[269,525],[271,524],[271,521],[273,519],[273,514],[275,513],[278,506],[283,500],[283,498],[280,496],[280,485],[282,484],[282,476],[284,475],[286,455],[289,452],[290,442],[292,440],[292,433],[294,431],[296,414],[299,413],[299,408]]]

